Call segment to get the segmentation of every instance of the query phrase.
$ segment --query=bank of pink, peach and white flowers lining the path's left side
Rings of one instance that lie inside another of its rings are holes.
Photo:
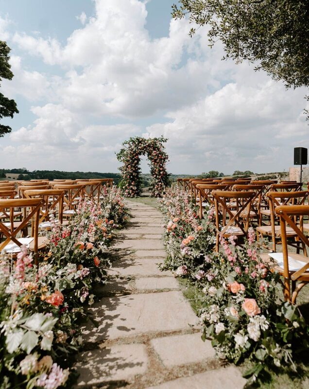
[[[12,260],[0,254],[0,388],[71,387],[72,356],[82,344],[79,326],[106,280],[113,230],[127,219],[119,190],[100,205],[80,203],[59,227],[51,220],[49,250],[38,269],[23,247]]]

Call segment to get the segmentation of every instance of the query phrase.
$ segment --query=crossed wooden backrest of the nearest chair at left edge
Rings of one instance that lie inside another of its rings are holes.
[[[40,198],[27,198],[27,199],[0,199],[0,212],[5,210],[10,210],[10,227],[7,227],[4,223],[0,221],[0,232],[4,235],[5,240],[0,243],[0,251],[3,250],[8,244],[15,243],[17,246],[21,246],[17,240],[17,234],[21,232],[24,228],[27,228],[28,223],[32,223],[32,230],[34,231],[34,254],[38,251],[38,221],[39,221],[39,213],[40,206],[42,204],[42,199]],[[30,209],[29,212],[26,213],[26,216],[23,218],[21,223],[18,223],[17,227],[15,227],[14,223],[14,210],[15,209]],[[37,259],[35,257],[35,261],[37,263]]]

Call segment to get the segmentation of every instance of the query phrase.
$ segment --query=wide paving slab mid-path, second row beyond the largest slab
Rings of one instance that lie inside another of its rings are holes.
[[[172,276],[170,271],[160,271],[158,264],[162,261],[158,258],[116,260],[112,263],[112,268],[107,272],[110,275],[120,275],[123,277],[150,277],[150,276]]]

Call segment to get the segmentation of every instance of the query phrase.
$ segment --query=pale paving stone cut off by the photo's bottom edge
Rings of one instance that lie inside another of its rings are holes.
[[[178,378],[146,389],[242,389],[246,380],[235,366]]]

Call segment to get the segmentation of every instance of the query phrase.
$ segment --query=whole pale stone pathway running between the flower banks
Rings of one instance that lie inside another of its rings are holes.
[[[91,308],[99,323],[83,328],[77,388],[240,389],[245,380],[223,368],[178,281],[161,272],[162,215],[127,202],[133,215],[114,246],[111,283]]]

